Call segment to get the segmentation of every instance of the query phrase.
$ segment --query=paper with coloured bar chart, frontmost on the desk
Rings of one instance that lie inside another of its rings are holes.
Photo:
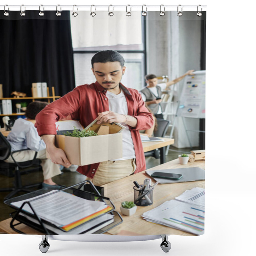
[[[204,207],[199,205],[173,199],[143,213],[142,217],[170,228],[196,235],[204,234]]]

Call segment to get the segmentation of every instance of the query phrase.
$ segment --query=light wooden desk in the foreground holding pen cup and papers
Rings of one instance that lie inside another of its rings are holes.
[[[156,167],[150,168],[148,170],[161,170],[168,168],[184,168],[184,167],[200,167],[204,169],[204,160],[199,160],[194,163],[188,163],[186,165],[179,164],[179,160],[175,159],[165,164],[158,165]],[[116,211],[120,211],[120,205],[124,201],[133,201],[133,181],[137,180],[139,184],[143,184],[143,180],[149,176],[145,172],[136,173],[134,175],[128,176],[121,180],[116,180],[111,183],[104,185],[105,196],[109,197],[112,203],[116,206]],[[153,181],[154,183],[154,181]],[[156,208],[158,205],[164,203],[167,200],[174,199],[176,196],[179,196],[187,189],[194,187],[204,188],[204,180],[201,181],[191,181],[191,182],[181,182],[181,183],[172,183],[172,184],[158,184],[154,188],[153,193],[153,204],[150,206],[137,206],[137,211],[132,216],[124,216],[122,218],[124,222],[115,228],[112,228],[108,231],[107,234],[117,235],[156,235],[156,234],[168,234],[168,235],[184,235],[184,236],[194,236],[193,234],[187,233],[174,228],[165,227],[155,223],[148,222],[143,220],[141,215],[143,212],[149,211],[153,208]],[[10,228],[10,219],[3,220],[0,222],[0,232],[17,234]],[[41,235],[38,231],[27,227],[24,224],[20,224],[17,227],[19,230],[23,231],[26,234],[36,234]]]

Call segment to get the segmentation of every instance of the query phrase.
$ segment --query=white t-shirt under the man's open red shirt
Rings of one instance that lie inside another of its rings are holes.
[[[118,114],[127,115],[128,107],[127,101],[124,95],[124,92],[121,90],[121,93],[115,94],[107,91],[106,96],[108,97],[108,107],[110,111],[116,112]],[[131,131],[129,130],[128,125],[124,125],[125,129],[123,130],[123,157],[118,159],[111,159],[112,161],[116,160],[126,160],[135,158],[135,151],[132,141]]]

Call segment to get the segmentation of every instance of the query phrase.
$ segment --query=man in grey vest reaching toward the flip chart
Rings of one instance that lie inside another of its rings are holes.
[[[172,84],[180,82],[185,76],[193,75],[194,70],[188,70],[183,76],[180,76],[170,82],[158,84],[157,76],[149,74],[145,76],[147,86],[140,91],[142,100],[152,110],[156,118],[164,119],[160,102],[162,102],[162,91],[167,90]]]

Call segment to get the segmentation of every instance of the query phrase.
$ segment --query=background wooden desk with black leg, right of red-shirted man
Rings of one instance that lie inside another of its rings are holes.
[[[148,152],[159,148],[160,150],[160,164],[165,163],[165,147],[168,145],[172,145],[174,143],[174,139],[171,138],[160,138],[164,141],[155,141],[155,142],[142,142],[143,151]]]

